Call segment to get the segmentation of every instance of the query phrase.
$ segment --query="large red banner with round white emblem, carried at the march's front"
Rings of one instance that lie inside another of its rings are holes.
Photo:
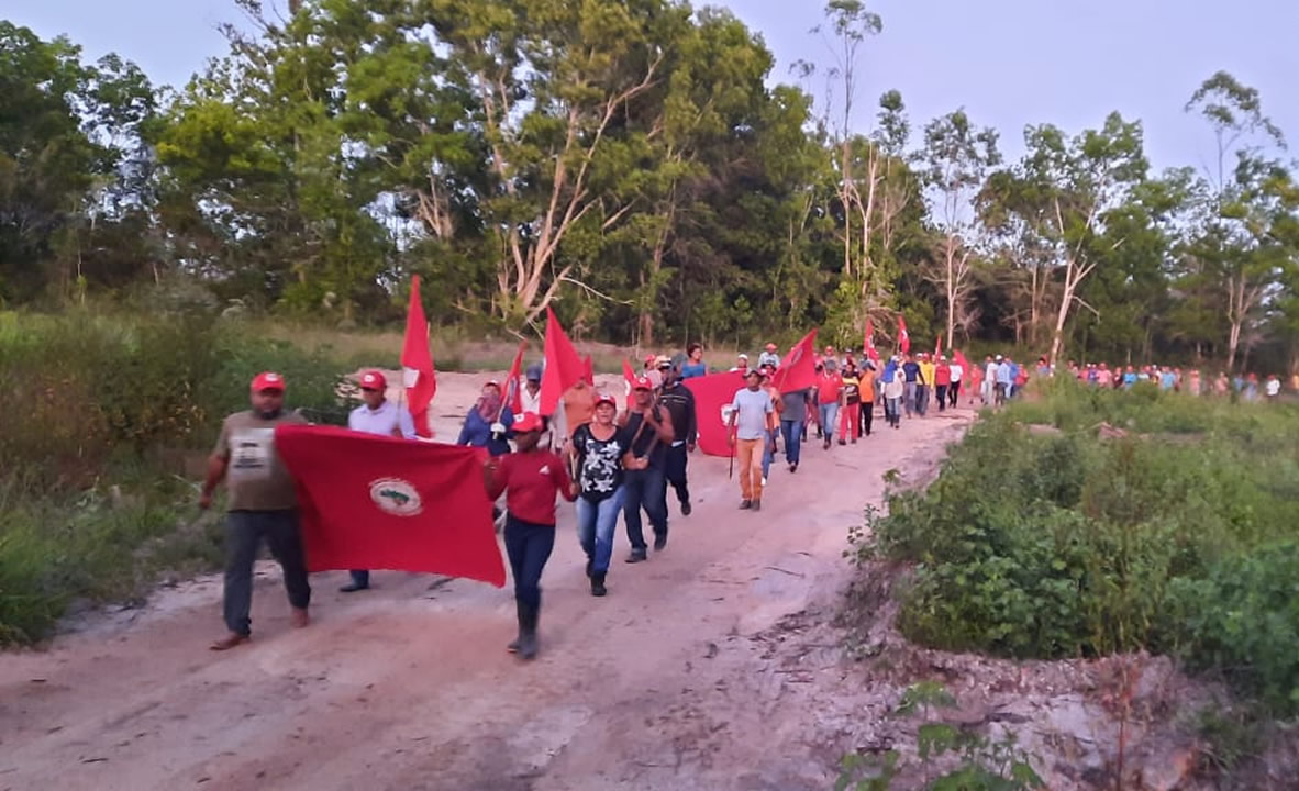
[[[505,584],[483,453],[282,423],[275,451],[297,484],[307,569],[392,569]]]

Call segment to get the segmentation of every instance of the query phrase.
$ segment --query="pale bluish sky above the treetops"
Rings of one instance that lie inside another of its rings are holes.
[[[831,64],[808,31],[821,0],[724,0],[776,53],[772,79],[792,82],[799,58]],[[696,3],[696,5],[701,5]],[[856,122],[869,130],[876,101],[898,88],[913,127],[964,107],[1002,131],[1018,153],[1026,123],[1069,132],[1109,110],[1146,125],[1157,168],[1212,156],[1203,122],[1183,114],[1191,92],[1218,69],[1263,95],[1264,112],[1299,149],[1299,0],[876,0],[883,32],[866,43]],[[4,0],[0,17],[42,38],[69,35],[99,57],[117,52],[158,83],[179,86],[225,53],[220,22],[240,19],[231,0]],[[820,101],[824,82],[811,90]]]

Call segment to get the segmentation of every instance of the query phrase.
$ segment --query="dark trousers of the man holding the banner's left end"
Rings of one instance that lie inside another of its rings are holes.
[[[223,609],[226,629],[251,634],[252,564],[262,539],[279,568],[284,570],[288,603],[307,609],[312,586],[307,582],[307,560],[297,533],[296,510],[231,510],[226,514],[226,579]]]

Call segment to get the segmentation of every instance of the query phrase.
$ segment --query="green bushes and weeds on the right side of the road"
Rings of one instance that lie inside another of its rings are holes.
[[[1299,710],[1299,413],[1154,386],[1043,396],[874,520],[863,552],[916,564],[903,630],[1017,657],[1176,652]]]

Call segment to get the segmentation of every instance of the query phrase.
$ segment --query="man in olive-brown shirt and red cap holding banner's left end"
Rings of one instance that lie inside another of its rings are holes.
[[[252,636],[252,566],[262,539],[284,571],[284,590],[292,607],[292,625],[307,626],[312,587],[297,533],[297,494],[294,479],[275,455],[275,426],[304,423],[284,412],[284,378],[273,371],[252,381],[252,409],[236,412],[221,425],[221,436],[208,460],[199,508],[212,507],[212,492],[223,479],[229,492],[226,513],[225,620],[229,634],[212,644],[225,651]]]

